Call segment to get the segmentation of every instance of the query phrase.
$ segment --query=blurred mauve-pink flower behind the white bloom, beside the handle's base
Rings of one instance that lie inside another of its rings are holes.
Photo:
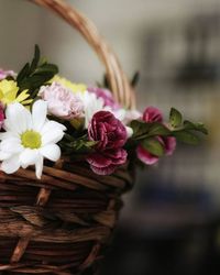
[[[117,101],[113,99],[113,95],[110,90],[102,89],[102,88],[96,88],[96,87],[89,87],[88,91],[96,94],[98,98],[102,98],[105,102],[105,107],[111,107],[112,110],[120,109],[120,105],[117,103]]]

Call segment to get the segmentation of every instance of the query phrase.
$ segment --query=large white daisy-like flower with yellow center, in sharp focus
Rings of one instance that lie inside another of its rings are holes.
[[[47,103],[37,100],[32,113],[20,103],[7,108],[4,133],[0,133],[1,170],[7,174],[20,167],[35,165],[36,177],[41,178],[44,157],[56,162],[61,157],[61,148],[56,144],[64,136],[66,128],[47,120]]]

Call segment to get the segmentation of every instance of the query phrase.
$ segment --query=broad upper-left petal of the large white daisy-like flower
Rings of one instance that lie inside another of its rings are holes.
[[[32,127],[31,113],[20,103],[9,105],[6,111],[4,129],[22,133]]]

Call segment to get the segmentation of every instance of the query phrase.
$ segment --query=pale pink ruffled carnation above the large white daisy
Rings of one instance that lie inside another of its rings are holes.
[[[51,114],[66,120],[82,117],[82,101],[58,82],[53,82],[51,86],[42,86],[40,96],[47,101]]]

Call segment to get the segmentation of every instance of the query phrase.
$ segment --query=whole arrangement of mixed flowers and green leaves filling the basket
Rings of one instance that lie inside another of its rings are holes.
[[[153,165],[173,154],[177,142],[197,144],[202,123],[183,120],[172,108],[169,120],[147,107],[127,110],[108,87],[73,84],[59,77],[56,65],[34,58],[16,75],[0,69],[0,169],[7,174],[35,166],[42,176],[44,158],[85,160],[99,175],[109,175],[128,161]]]

